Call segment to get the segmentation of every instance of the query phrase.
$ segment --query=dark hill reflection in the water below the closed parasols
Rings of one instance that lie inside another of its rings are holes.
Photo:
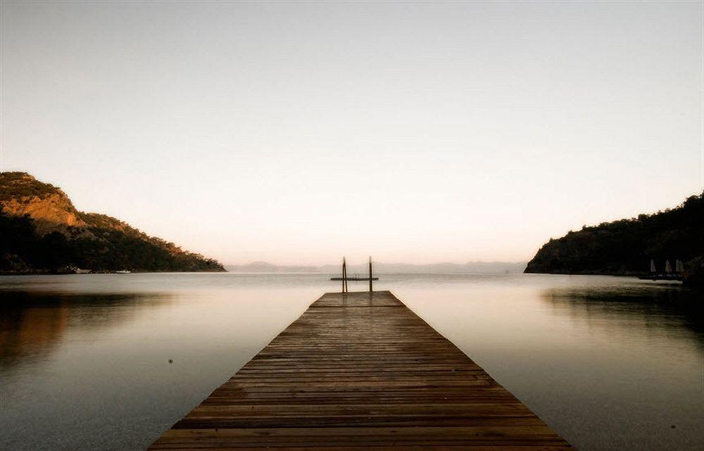
[[[571,318],[617,332],[637,323],[652,334],[681,334],[684,326],[704,346],[704,293],[667,284],[548,288],[541,298]]]

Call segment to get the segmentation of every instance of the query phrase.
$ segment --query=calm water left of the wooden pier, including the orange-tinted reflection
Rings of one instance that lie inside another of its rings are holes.
[[[0,450],[146,448],[325,290],[270,279],[0,277]]]

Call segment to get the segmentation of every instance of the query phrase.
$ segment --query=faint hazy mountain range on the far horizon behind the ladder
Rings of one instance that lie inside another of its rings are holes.
[[[467,262],[467,263],[434,263],[430,265],[410,265],[408,263],[374,263],[376,274],[507,274],[520,273],[526,267],[525,262]],[[232,272],[315,272],[337,274],[341,265],[296,266],[272,265],[268,262],[252,262],[247,265],[227,265]],[[348,265],[348,274],[366,274],[367,264]]]

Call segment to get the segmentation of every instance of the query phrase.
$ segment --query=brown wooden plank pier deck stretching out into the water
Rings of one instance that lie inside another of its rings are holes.
[[[150,450],[572,450],[389,291],[327,293]]]

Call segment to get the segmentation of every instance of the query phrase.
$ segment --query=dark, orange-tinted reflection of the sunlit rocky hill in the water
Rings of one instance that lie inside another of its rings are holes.
[[[69,331],[101,331],[169,302],[160,293],[1,291],[0,298],[0,369],[46,357]]]

